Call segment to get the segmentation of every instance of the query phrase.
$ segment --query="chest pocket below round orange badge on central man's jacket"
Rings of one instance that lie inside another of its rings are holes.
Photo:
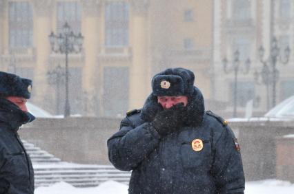
[[[211,145],[209,140],[202,140],[203,145],[193,149],[192,142],[182,142],[181,158],[184,168],[204,168],[209,166],[211,158]]]

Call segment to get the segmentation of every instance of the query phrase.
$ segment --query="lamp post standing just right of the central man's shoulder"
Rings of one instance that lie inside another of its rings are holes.
[[[249,67],[251,64],[251,61],[249,58],[246,59],[244,63],[244,69],[241,67],[241,63],[239,61],[239,51],[236,50],[234,52],[234,58],[232,61],[231,67],[228,67],[228,60],[226,57],[222,60],[223,67],[224,67],[224,72],[226,74],[230,74],[231,72],[234,72],[234,109],[233,109],[233,117],[235,118],[237,116],[237,82],[238,82],[238,72],[239,70],[243,70],[244,74],[248,74],[249,72]]]

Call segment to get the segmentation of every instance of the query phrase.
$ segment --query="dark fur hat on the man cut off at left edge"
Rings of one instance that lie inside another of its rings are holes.
[[[0,96],[18,96],[29,99],[31,90],[32,80],[0,72]]]

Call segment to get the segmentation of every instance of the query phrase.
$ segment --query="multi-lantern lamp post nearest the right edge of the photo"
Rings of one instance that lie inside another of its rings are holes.
[[[290,47],[284,49],[283,54],[280,52],[280,47],[277,45],[277,39],[273,37],[271,41],[271,50],[268,59],[264,61],[264,47],[259,47],[259,61],[263,64],[261,72],[255,72],[255,80],[258,79],[259,74],[262,76],[262,82],[266,84],[266,91],[269,93],[269,85],[273,85],[273,107],[276,104],[277,96],[277,80],[279,80],[279,70],[277,69],[277,61],[283,64],[288,63],[290,56]],[[268,109],[269,109],[269,96],[268,96]]]

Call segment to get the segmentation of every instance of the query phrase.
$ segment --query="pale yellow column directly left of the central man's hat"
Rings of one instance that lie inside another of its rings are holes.
[[[142,107],[150,92],[150,68],[148,67],[148,1],[130,1],[132,20],[130,43],[133,62],[130,67],[130,109]]]

